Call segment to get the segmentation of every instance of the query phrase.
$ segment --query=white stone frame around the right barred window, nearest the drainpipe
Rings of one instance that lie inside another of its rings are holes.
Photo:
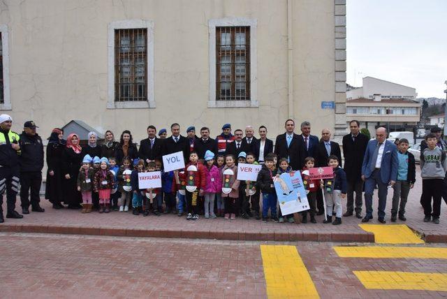
[[[216,27],[250,27],[250,100],[216,101]],[[258,20],[248,17],[225,17],[208,20],[209,99],[208,108],[258,108]]]

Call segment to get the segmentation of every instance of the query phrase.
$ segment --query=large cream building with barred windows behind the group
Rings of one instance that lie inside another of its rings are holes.
[[[345,0],[1,1],[0,110],[44,137],[72,119],[135,141],[173,122],[272,137],[288,117],[342,136],[345,15]]]

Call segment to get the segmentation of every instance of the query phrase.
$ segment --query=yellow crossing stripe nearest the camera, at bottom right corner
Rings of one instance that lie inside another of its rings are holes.
[[[447,291],[447,273],[353,271],[366,289]]]

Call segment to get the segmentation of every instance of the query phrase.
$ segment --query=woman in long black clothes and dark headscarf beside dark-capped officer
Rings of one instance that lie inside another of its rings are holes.
[[[64,205],[64,192],[62,189],[61,160],[66,141],[63,139],[64,130],[55,128],[48,138],[47,145],[47,181],[45,183],[45,198],[50,200],[54,209],[61,209]]]

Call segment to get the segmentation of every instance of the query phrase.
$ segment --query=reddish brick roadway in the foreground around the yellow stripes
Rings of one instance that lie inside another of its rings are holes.
[[[260,245],[274,244],[278,242],[0,233],[1,297],[266,298]],[[332,246],[346,243],[281,244],[297,247],[321,298],[447,296],[441,291],[365,289],[353,274],[446,273],[445,259],[340,258]]]

